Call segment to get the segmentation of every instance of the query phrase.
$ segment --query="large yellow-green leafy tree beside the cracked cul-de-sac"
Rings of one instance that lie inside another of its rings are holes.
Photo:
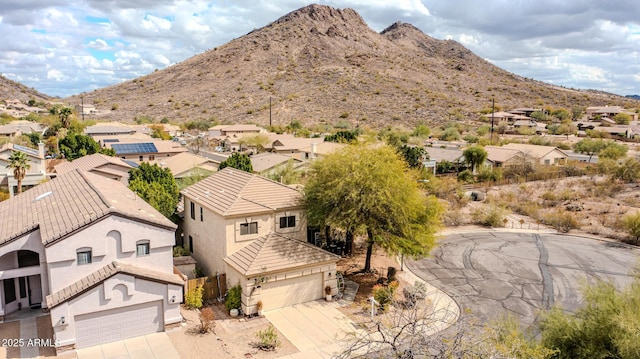
[[[304,201],[311,225],[366,235],[365,271],[374,244],[411,257],[435,244],[441,207],[390,146],[351,145],[314,162]]]

